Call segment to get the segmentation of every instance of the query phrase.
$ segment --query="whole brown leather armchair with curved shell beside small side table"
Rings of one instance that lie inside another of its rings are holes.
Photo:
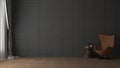
[[[115,35],[98,34],[101,41],[101,46],[94,46],[94,51],[101,57],[106,57],[111,54],[114,47]]]

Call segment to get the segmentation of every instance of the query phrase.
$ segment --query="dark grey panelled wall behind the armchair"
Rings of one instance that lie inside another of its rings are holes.
[[[83,56],[85,45],[99,41],[98,33],[114,33],[112,16],[116,16],[113,10],[115,6],[108,2],[13,0],[15,55]],[[107,5],[110,5],[110,13]],[[107,18],[108,15],[111,15],[110,18]],[[113,28],[112,31],[109,28]]]

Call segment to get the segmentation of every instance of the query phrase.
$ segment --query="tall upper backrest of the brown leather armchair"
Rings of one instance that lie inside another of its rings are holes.
[[[104,35],[104,34],[98,34],[98,37],[101,41],[101,48],[104,50],[107,47],[114,47],[115,42],[115,35]]]

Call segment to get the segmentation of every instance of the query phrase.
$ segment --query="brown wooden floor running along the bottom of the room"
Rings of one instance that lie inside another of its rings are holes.
[[[0,62],[0,68],[120,68],[120,59],[18,58]]]

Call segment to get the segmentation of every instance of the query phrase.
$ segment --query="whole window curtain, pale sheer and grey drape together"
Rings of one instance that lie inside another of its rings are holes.
[[[11,26],[8,20],[8,13],[7,13],[7,1],[0,0],[0,61],[5,60],[6,57],[8,57],[8,59],[14,58],[11,50],[12,49],[11,36],[12,36]]]

